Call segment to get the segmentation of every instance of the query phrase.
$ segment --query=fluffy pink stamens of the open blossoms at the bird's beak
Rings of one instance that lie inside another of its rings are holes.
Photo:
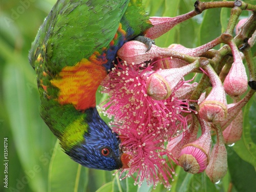
[[[150,77],[155,73],[152,66],[144,63],[127,65],[118,62],[102,83],[103,92],[110,96],[103,109],[110,118],[113,117],[111,125],[122,141],[122,151],[130,155],[126,176],[138,173],[136,184],[140,185],[146,179],[148,183],[156,185],[160,182],[170,187],[174,170],[167,162],[173,157],[164,142],[185,129],[186,118],[182,113],[190,113],[187,100],[175,97],[175,92],[184,87],[191,92],[195,84],[180,77],[168,98],[155,100],[148,95]],[[182,91],[179,94],[186,97]]]

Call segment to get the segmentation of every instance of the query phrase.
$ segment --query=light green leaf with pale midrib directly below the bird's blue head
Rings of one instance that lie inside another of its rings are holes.
[[[71,160],[57,141],[49,168],[48,192],[82,192],[88,184],[88,173],[88,168]]]

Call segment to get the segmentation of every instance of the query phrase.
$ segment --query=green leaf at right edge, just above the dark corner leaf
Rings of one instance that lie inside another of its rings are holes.
[[[243,135],[242,138],[234,144],[233,149],[246,162],[256,167],[256,98],[246,104],[243,113]]]

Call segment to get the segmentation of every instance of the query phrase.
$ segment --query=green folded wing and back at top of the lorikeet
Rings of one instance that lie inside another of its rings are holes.
[[[126,0],[59,0],[39,29],[31,55],[42,44],[39,52],[45,54],[44,64],[51,72],[74,66],[110,44],[128,4]]]

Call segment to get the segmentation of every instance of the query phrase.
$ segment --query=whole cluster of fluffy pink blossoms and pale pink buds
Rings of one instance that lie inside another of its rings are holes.
[[[152,17],[155,27],[146,35],[156,37],[161,25],[173,18]],[[178,53],[199,57],[220,43],[219,39],[195,49],[181,45],[149,51],[139,41],[126,42],[118,51],[115,68],[102,82],[103,93],[109,95],[103,105],[105,115],[113,118],[110,125],[121,139],[121,150],[129,155],[125,177],[135,177],[135,184],[164,184],[169,188],[174,169],[169,160],[191,174],[206,172],[218,182],[227,172],[225,144],[238,141],[242,135],[242,107],[249,98],[240,100],[247,90],[247,75],[242,56],[233,39],[228,45],[233,63],[224,82],[210,63],[187,62]],[[201,70],[210,81],[206,91],[197,83],[184,81],[184,76]],[[198,101],[189,100],[199,91]],[[234,103],[227,104],[227,95]],[[189,103],[197,103],[191,110]],[[185,115],[186,114],[186,115]],[[198,136],[198,130],[201,135]],[[212,146],[211,133],[217,142]],[[167,145],[166,145],[167,143]]]

